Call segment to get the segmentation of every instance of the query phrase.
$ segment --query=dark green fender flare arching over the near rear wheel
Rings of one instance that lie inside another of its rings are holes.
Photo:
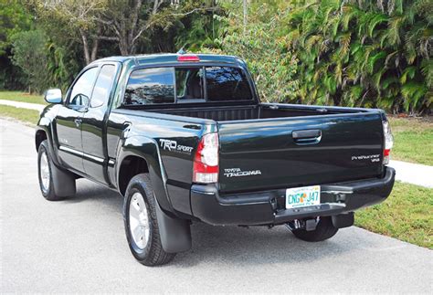
[[[153,192],[158,204],[165,210],[174,213],[173,205],[168,197],[166,182],[167,176],[161,161],[158,143],[145,136],[132,136],[123,142],[117,156],[116,179],[119,184],[121,163],[128,156],[138,156],[147,162],[149,176],[152,181]]]

